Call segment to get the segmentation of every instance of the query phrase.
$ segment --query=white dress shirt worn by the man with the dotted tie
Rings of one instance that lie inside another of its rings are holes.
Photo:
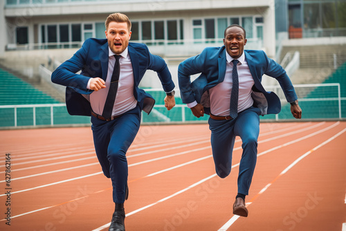
[[[228,116],[230,115],[230,93],[232,91],[233,80],[233,57],[226,52],[226,73],[224,81],[217,84],[217,86],[209,89],[210,95],[210,112],[212,115]],[[255,82],[251,75],[248,63],[246,62],[244,53],[238,58],[237,65],[238,78],[239,78],[239,97],[238,97],[238,112],[244,111],[253,105],[253,98],[251,93],[252,87]],[[188,104],[189,108],[196,106],[197,102]]]

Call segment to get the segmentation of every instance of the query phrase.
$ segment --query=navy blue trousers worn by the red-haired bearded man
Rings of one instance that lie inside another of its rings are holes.
[[[91,116],[96,156],[104,176],[111,178],[114,203],[125,202],[128,176],[126,152],[138,133],[140,116],[139,106],[109,122]]]

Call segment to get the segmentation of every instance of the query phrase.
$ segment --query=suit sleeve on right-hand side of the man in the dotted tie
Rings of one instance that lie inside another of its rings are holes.
[[[293,102],[298,99],[293,84],[291,80],[289,79],[289,76],[286,74],[286,71],[284,71],[284,68],[280,66],[280,64],[277,64],[273,59],[269,59],[266,56],[266,53],[264,53],[264,56],[266,57],[267,62],[267,68],[264,72],[266,75],[274,77],[277,82],[279,82],[282,91],[284,91],[285,98],[287,102]]]

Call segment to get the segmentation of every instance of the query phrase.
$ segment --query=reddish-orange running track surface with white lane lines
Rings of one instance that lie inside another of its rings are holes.
[[[108,230],[111,181],[89,127],[0,136],[0,230]],[[237,139],[232,172],[221,179],[208,124],[142,126],[127,152],[126,230],[343,230],[346,122],[262,123],[247,218],[232,213],[241,154]]]

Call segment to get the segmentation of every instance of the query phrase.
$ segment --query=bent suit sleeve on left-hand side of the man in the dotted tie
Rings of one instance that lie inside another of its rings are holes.
[[[192,91],[191,75],[204,72],[205,59],[206,50],[203,50],[200,55],[190,57],[179,64],[178,81],[181,100],[183,100],[184,104],[189,104],[196,100]]]

